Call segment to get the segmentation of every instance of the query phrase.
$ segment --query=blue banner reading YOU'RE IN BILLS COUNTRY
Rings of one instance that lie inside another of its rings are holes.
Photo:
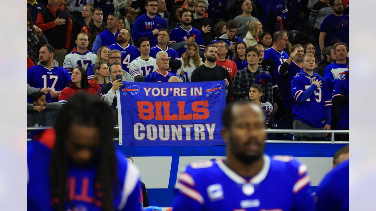
[[[140,83],[123,81],[117,91],[119,145],[224,145],[223,81]]]

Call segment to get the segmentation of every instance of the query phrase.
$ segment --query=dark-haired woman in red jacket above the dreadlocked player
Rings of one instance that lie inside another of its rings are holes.
[[[75,67],[72,71],[72,80],[67,87],[61,90],[59,95],[59,102],[65,104],[71,96],[79,92],[87,92],[90,94],[98,94],[98,92],[91,87],[86,76],[86,70],[83,67]]]

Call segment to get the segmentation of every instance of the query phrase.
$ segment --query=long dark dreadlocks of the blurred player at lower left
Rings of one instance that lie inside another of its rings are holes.
[[[98,169],[95,184],[100,184],[102,209],[114,210],[113,197],[117,196],[113,196],[112,193],[118,193],[118,180],[114,142],[112,141],[114,134],[112,112],[108,105],[97,97],[85,93],[78,93],[70,98],[56,117],[56,142],[50,163],[52,199],[58,199],[54,204],[54,209],[65,211],[65,202],[67,202],[73,210],[73,204],[70,202],[67,191],[68,154],[65,147],[68,130],[73,124],[96,127],[100,130],[100,154],[97,157]],[[98,189],[98,187],[94,187],[95,200],[98,200]]]

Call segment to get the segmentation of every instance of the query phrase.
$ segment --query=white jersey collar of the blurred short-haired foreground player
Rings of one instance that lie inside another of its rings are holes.
[[[217,161],[218,167],[226,174],[232,181],[236,182],[237,184],[244,184],[244,183],[252,183],[252,184],[259,184],[262,182],[266,176],[268,175],[270,169],[270,158],[268,155],[264,155],[264,165],[261,168],[261,171],[253,176],[250,181],[247,181],[242,176],[235,173],[231,170],[226,164],[224,164],[223,160]]]

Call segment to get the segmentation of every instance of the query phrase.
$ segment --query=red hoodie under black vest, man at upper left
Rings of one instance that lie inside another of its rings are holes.
[[[50,8],[50,5],[47,5],[46,7],[54,16],[56,16],[56,12],[58,10],[60,10],[61,8],[63,8],[63,6],[59,6],[58,9],[56,9],[56,11],[53,11],[51,8]],[[64,12],[64,11],[63,11]],[[67,21],[67,39],[65,40],[65,49],[69,49],[70,48],[70,42],[71,42],[71,39],[72,39],[72,23],[71,23],[71,20],[70,20],[70,16],[68,15],[68,21]],[[36,26],[38,28],[40,28],[42,30],[42,32],[44,32],[45,30],[49,30],[49,29],[52,29],[52,28],[55,28],[56,25],[55,25],[55,18],[54,18],[54,21],[51,21],[50,23],[44,23],[44,18],[43,18],[43,15],[39,12],[38,13],[38,16],[36,17]],[[56,49],[55,50],[60,50],[60,49]]]

